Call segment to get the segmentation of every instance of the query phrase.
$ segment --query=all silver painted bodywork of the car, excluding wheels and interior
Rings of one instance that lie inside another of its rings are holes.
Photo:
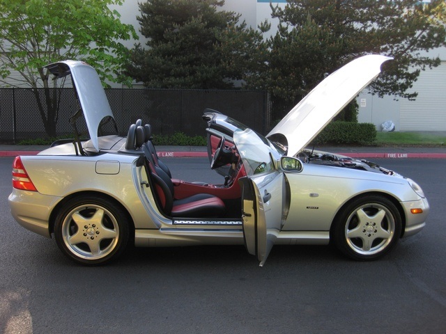
[[[323,81],[272,130],[270,134],[286,136],[288,155],[295,155],[296,150],[316,136],[339,108],[378,75],[380,64],[390,58],[360,59]],[[64,144],[37,156],[20,157],[37,191],[13,189],[8,200],[13,217],[28,230],[51,237],[55,217],[66,201],[102,196],[128,214],[136,246],[245,244],[249,253],[258,255],[263,264],[272,244],[328,244],[337,217],[348,203],[364,196],[379,195],[394,203],[403,226],[398,237],[420,232],[425,225],[429,203],[421,189],[415,191],[413,184],[401,175],[372,165],[360,170],[309,164],[293,157],[286,159],[294,159],[290,161],[299,168],[288,170],[281,165],[284,151],[279,145],[247,127],[238,128],[238,122],[226,121],[226,116],[220,113],[215,114],[213,121],[218,122],[220,129],[226,127],[224,136],[233,133],[234,149],[249,179],[240,183],[252,184],[255,190],[246,190],[247,193],[240,193],[240,198],[233,199],[248,207],[243,209],[243,214],[240,212],[240,216],[230,219],[172,218],[161,212],[159,200],[154,197],[151,187],[155,189],[155,186],[144,168],[146,165],[141,164],[144,152],[139,148],[124,148],[127,147],[125,138],[98,138],[101,122],[113,115],[95,71],[84,63],[72,61],[49,67],[59,76],[72,72],[91,140],[82,143],[83,155],[77,154],[74,145]],[[349,80],[359,69],[364,72],[357,80]],[[316,106],[321,96],[326,99],[322,99],[321,106]],[[331,106],[336,106],[336,110]],[[212,127],[212,121],[208,121],[208,126]],[[422,213],[413,214],[411,209],[421,209]]]

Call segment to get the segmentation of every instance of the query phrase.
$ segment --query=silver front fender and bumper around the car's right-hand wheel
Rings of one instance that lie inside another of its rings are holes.
[[[334,217],[348,200],[366,193],[381,193],[401,203],[407,227],[425,221],[429,205],[403,177],[307,164],[301,173],[286,173],[291,185],[289,218],[282,230],[330,230]],[[422,207],[423,214],[410,214]]]

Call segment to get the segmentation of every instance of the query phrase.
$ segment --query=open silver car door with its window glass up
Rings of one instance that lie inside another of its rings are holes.
[[[234,132],[233,138],[247,170],[239,181],[245,246],[263,266],[286,218],[285,176],[275,165],[280,153],[251,129]]]

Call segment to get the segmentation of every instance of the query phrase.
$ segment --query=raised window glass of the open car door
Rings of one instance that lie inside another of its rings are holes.
[[[247,175],[268,173],[275,170],[275,161],[283,150],[273,145],[267,138],[257,134],[252,129],[236,130],[233,135],[238,153],[242,157]]]

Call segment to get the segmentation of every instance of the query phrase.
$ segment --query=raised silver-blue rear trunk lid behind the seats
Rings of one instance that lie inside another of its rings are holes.
[[[109,120],[114,122],[114,117],[98,74],[93,67],[83,61],[60,61],[45,67],[56,78],[71,74],[72,84],[76,88],[89,129],[91,143],[99,152],[98,131],[100,126]],[[116,122],[114,124],[116,128]]]

